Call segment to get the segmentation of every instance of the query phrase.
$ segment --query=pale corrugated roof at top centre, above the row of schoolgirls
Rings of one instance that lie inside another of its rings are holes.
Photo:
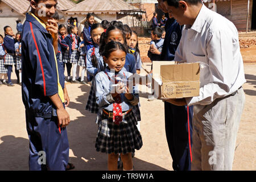
[[[68,14],[87,14],[94,12],[95,14],[101,13],[116,13],[121,10],[131,10],[133,9],[132,5],[122,1],[122,0],[85,0],[78,3],[72,9],[66,11]],[[134,9],[137,9],[136,7]]]

